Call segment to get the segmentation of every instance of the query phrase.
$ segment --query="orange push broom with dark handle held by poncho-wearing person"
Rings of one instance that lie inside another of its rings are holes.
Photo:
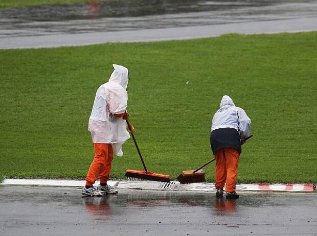
[[[145,163],[144,163],[143,157],[141,155],[140,149],[139,149],[138,144],[137,144],[137,140],[135,140],[135,137],[134,137],[134,134],[133,134],[133,131],[132,131],[132,127],[131,127],[131,125],[130,125],[130,123],[128,121],[126,121],[126,122],[127,122],[127,125],[128,125],[128,129],[130,130],[131,136],[133,138],[135,147],[137,148],[139,156],[141,158],[144,171],[126,170],[125,176],[132,177],[132,178],[138,178],[138,179],[147,179],[147,180],[160,181],[160,182],[170,182],[171,180],[170,180],[169,175],[156,174],[156,173],[147,171],[147,169],[145,167]]]

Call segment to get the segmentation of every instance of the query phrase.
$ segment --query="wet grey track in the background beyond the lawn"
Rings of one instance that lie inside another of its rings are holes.
[[[0,9],[1,48],[317,30],[317,1],[155,1]]]

